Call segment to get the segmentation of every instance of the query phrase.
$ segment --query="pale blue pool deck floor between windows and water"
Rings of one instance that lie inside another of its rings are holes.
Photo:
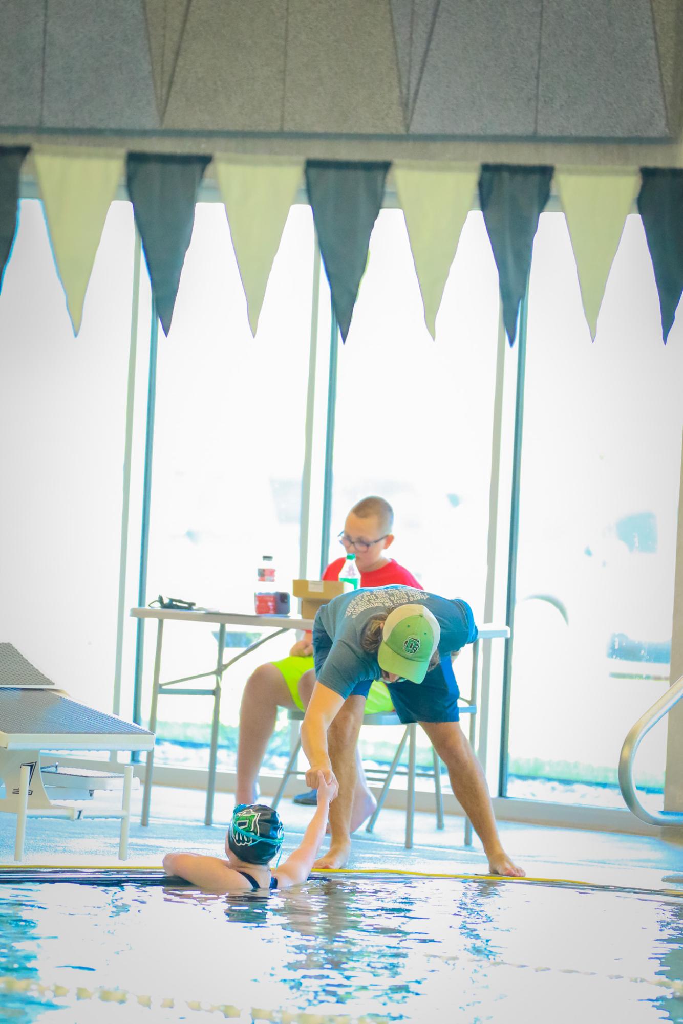
[[[141,793],[133,794],[129,857],[117,858],[119,822],[114,819],[30,818],[24,865],[32,866],[161,866],[170,850],[221,855],[233,797],[217,794],[215,824],[203,824],[205,796],[193,790],[157,786],[147,827],[139,824]],[[288,839],[285,853],[296,846],[311,809],[289,800],[281,804]],[[12,865],[15,818],[0,815],[0,864]],[[418,813],[413,850],[403,848],[404,813],[385,809],[374,835],[361,828],[353,840],[347,867],[430,874],[486,874],[487,864],[475,837],[463,846],[463,819],[446,815],[437,831],[433,814]],[[680,892],[683,895],[683,845],[642,836],[578,828],[500,823],[509,855],[531,879],[570,881],[592,886]]]

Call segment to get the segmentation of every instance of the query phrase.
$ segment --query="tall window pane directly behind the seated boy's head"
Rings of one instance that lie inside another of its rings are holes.
[[[394,508],[390,554],[426,590],[465,598],[483,617],[498,275],[483,218],[465,223],[436,321],[422,299],[401,210],[382,210],[353,322],[339,352],[333,540],[369,494]],[[456,670],[469,692],[471,649]],[[386,729],[364,729],[366,754],[389,757]],[[423,757],[427,741],[421,734]],[[380,745],[383,744],[383,745]]]

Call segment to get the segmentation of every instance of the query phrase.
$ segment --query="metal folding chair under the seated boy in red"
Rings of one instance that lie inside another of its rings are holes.
[[[461,698],[460,714],[475,715],[476,705],[464,701]],[[304,718],[304,713],[301,711],[289,711],[288,718],[290,722],[302,722]],[[471,720],[473,721],[473,719]],[[365,715],[362,719],[364,725],[401,725],[401,721],[395,712],[388,712],[375,715]],[[409,742],[410,740],[410,742]],[[409,753],[408,753],[408,769],[407,771],[398,771],[398,765],[400,763],[401,755],[405,748],[405,743],[409,742]],[[296,768],[296,764],[299,758],[299,752],[301,750],[301,735],[297,737],[294,744],[294,749],[290,756],[290,759],[285,768],[285,773],[282,777],[278,792],[275,794],[274,800],[272,802],[272,807],[276,808],[280,800],[285,792],[285,786],[287,785],[288,779],[292,775],[303,775],[302,771]],[[373,812],[370,821],[366,825],[366,831],[372,833],[375,827],[375,822],[379,817],[379,813],[384,806],[384,801],[387,793],[389,792],[389,786],[391,785],[391,780],[394,775],[401,774],[405,775],[408,778],[408,792],[407,792],[407,802],[405,802],[405,849],[413,849],[413,829],[415,824],[415,780],[416,778],[431,778],[434,781],[434,799],[436,803],[436,827],[438,829],[443,828],[443,797],[441,794],[441,764],[436,751],[432,748],[432,768],[428,771],[418,771],[416,767],[416,752],[417,752],[417,724],[412,722],[407,725],[403,730],[403,735],[396,748],[396,753],[394,754],[393,761],[389,766],[388,771],[383,772],[380,769],[371,769],[367,772],[368,777],[375,777],[377,780],[384,779],[384,785],[382,786],[382,792],[380,794],[379,800],[377,801],[377,807]],[[469,818],[465,818],[465,845],[472,845],[472,825]]]

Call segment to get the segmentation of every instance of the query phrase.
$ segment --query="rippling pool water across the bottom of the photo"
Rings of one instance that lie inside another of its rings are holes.
[[[17,1024],[683,1022],[683,898],[351,876],[228,896],[2,885],[0,976],[28,985],[0,990]]]

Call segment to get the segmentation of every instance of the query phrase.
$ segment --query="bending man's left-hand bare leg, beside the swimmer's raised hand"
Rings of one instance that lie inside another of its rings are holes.
[[[330,804],[332,838],[330,849],[313,865],[318,869],[343,867],[351,850],[351,808],[357,782],[356,744],[365,710],[365,697],[347,697],[328,730],[328,751],[339,793]]]

